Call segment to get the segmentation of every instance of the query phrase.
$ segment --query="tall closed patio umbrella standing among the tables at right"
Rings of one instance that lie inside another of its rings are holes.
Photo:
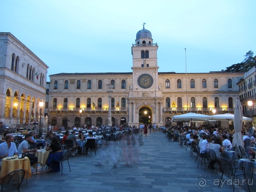
[[[251,119],[251,118],[249,118]],[[243,126],[243,110],[242,105],[239,99],[235,101],[235,110],[234,110],[234,130],[232,146],[236,147],[235,151],[241,155],[238,146],[244,147],[244,141],[241,134],[241,129]]]

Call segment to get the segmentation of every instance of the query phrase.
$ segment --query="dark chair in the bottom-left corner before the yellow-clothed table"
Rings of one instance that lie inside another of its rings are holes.
[[[11,171],[7,175],[5,175],[2,181],[1,192],[13,191],[13,190],[20,191],[20,186],[24,177],[25,177],[24,169],[17,169],[17,170]]]

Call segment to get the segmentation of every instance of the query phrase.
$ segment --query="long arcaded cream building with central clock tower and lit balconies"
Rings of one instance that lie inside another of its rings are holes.
[[[109,105],[112,125],[138,126],[139,119],[147,116],[152,123],[168,126],[173,115],[187,111],[213,115],[213,108],[216,114],[233,113],[239,96],[236,83],[244,73],[158,72],[158,44],[144,26],[131,49],[132,72],[50,75],[49,122],[67,127],[107,125]]]

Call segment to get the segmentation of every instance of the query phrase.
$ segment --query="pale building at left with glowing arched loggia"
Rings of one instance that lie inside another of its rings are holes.
[[[48,68],[11,33],[0,33],[0,121],[15,126],[37,120]]]

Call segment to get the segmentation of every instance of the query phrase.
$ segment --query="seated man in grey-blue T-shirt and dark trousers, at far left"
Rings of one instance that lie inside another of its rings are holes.
[[[32,135],[31,134],[27,134],[25,135],[25,139],[24,141],[21,142],[21,144],[18,147],[18,154],[23,153],[25,154],[26,157],[29,158],[30,160],[30,166],[32,166],[34,163],[37,162],[37,157],[35,157],[35,151],[37,150],[37,148],[32,149],[32,150],[28,150],[28,142],[32,142]]]

